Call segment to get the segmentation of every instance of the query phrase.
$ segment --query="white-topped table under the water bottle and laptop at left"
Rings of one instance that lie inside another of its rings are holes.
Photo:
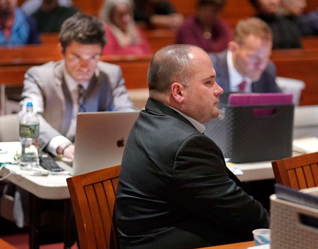
[[[13,156],[16,154],[16,148],[19,148],[20,142],[0,142],[0,148],[8,152],[0,154],[0,162],[13,162]],[[39,248],[40,231],[40,207],[41,199],[63,200],[64,201],[64,248],[71,247],[71,199],[68,192],[66,178],[70,175],[30,175],[33,171],[21,170],[19,165],[7,164],[0,172],[0,175],[6,176],[10,171],[21,173],[22,175],[10,175],[7,179],[17,186],[27,190],[30,193],[30,249]]]

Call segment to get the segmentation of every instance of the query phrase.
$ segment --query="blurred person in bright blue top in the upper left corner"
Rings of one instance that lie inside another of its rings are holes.
[[[0,1],[0,45],[41,43],[36,22],[25,16],[17,0]]]

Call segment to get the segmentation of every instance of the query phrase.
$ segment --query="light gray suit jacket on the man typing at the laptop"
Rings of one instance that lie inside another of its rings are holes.
[[[24,75],[19,116],[26,111],[26,103],[33,102],[34,111],[39,114],[41,146],[55,136],[65,135],[70,126],[73,103],[63,77],[63,67],[64,60],[50,61],[31,67]],[[87,112],[136,109],[129,99],[119,66],[100,61],[97,72],[85,93]]]

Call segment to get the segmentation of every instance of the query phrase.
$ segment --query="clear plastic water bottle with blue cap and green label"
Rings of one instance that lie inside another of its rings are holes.
[[[20,165],[26,169],[39,166],[38,155],[39,119],[33,112],[32,102],[26,105],[26,113],[20,120],[21,157]]]

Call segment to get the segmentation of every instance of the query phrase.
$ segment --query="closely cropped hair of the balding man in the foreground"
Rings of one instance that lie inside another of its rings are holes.
[[[165,46],[154,54],[147,74],[150,97],[156,93],[168,93],[173,82],[178,82],[182,86],[192,84],[193,62],[190,52],[193,48],[199,47],[189,44],[174,44]]]

